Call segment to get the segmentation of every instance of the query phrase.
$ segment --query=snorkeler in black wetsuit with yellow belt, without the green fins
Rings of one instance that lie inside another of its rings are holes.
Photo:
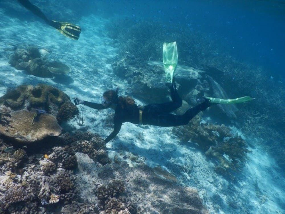
[[[175,84],[170,88],[172,102],[161,104],[149,104],[146,106],[137,106],[133,98],[118,97],[118,89],[116,91],[109,90],[104,92],[102,104],[87,102],[75,98],[74,103],[84,104],[94,109],[114,108],[114,131],[105,139],[105,142],[112,140],[120,131],[123,122],[131,122],[133,124],[144,124],[154,126],[181,126],[186,125],[200,111],[210,107],[210,100],[203,98],[201,104],[187,110],[183,115],[170,114],[182,105],[182,100],[178,95]]]

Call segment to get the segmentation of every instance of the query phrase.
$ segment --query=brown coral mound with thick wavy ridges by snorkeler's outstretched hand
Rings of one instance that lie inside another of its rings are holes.
[[[46,110],[55,116],[59,123],[70,120],[79,113],[78,108],[70,101],[67,94],[45,84],[18,86],[0,97],[1,104],[13,110]]]

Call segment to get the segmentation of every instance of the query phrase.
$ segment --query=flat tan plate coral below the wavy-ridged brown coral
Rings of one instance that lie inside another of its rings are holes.
[[[31,143],[47,136],[58,136],[61,127],[50,114],[42,114],[39,120],[32,124],[35,112],[20,110],[11,112],[6,126],[0,126],[0,134],[11,137],[19,142]]]

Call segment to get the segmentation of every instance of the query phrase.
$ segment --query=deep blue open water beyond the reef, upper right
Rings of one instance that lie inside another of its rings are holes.
[[[99,1],[106,17],[151,19],[201,31],[239,60],[285,77],[285,1]],[[112,10],[109,10],[109,5]]]

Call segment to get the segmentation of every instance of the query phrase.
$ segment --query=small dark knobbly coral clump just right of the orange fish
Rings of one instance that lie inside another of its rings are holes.
[[[52,154],[48,157],[60,168],[74,169],[77,166],[75,153],[70,146],[54,147]]]

